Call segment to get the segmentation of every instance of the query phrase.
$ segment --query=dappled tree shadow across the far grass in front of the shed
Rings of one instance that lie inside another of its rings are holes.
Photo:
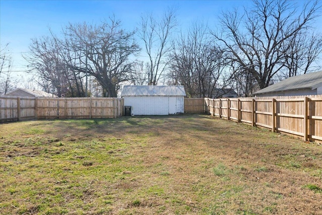
[[[56,132],[63,133],[82,133],[89,131],[92,134],[118,133],[140,131],[149,133],[153,129],[158,131],[183,131],[185,127],[202,128],[202,115],[174,115],[174,116],[134,116],[120,117],[117,119],[79,119],[79,120],[51,120],[38,121],[32,126],[48,125],[55,126]],[[170,123],[170,124],[169,124]],[[46,126],[45,126],[46,127]]]

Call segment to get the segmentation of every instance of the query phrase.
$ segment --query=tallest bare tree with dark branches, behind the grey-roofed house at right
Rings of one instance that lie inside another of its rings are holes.
[[[286,68],[284,51],[290,44],[285,47],[285,42],[299,33],[306,35],[319,9],[317,2],[305,2],[299,10],[286,0],[255,0],[254,8],[245,9],[243,16],[236,10],[222,14],[221,31],[212,34],[229,53],[228,60],[242,68],[234,72],[251,74],[262,89]]]

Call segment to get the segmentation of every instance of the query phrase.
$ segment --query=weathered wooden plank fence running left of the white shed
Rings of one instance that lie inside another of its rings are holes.
[[[33,119],[117,118],[123,98],[0,97],[0,122]]]

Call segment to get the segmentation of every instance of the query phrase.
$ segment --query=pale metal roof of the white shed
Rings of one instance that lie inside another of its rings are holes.
[[[123,86],[121,96],[185,96],[183,86]]]

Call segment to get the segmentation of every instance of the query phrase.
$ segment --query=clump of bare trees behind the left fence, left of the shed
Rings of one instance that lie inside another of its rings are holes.
[[[101,85],[96,88],[103,90],[102,96],[116,97],[120,83],[131,78],[129,57],[140,50],[134,33],[122,30],[114,19],[97,26],[70,24],[63,29],[62,39],[52,32],[51,37],[33,39],[31,54],[25,59],[30,70],[36,71],[42,87],[59,97],[90,94],[88,76],[95,77]]]

